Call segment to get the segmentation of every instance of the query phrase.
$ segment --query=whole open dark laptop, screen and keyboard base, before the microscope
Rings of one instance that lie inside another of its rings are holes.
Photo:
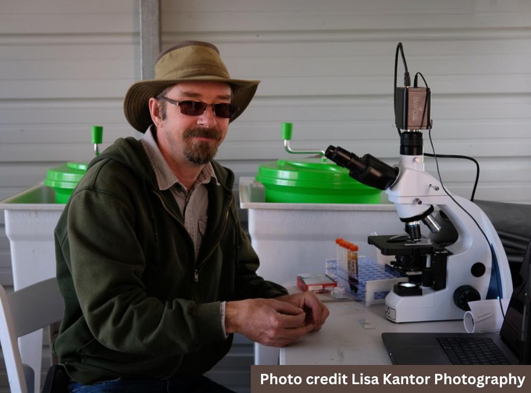
[[[531,241],[500,333],[382,333],[393,364],[531,364]]]

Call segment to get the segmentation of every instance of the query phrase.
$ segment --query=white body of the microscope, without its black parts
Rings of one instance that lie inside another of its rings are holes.
[[[456,291],[469,285],[477,290],[482,300],[486,299],[491,275],[500,283],[499,297],[510,298],[512,281],[507,256],[498,234],[481,208],[456,195],[452,197],[462,208],[452,200],[439,180],[424,171],[422,154],[401,155],[398,168],[398,177],[386,193],[395,204],[400,218],[415,217],[426,212],[430,206],[438,206],[455,225],[458,239],[446,247],[451,253],[447,259],[446,287],[434,290],[421,286],[422,295],[414,296],[400,296],[391,291],[386,297],[387,318],[393,322],[462,319],[465,311],[456,305]],[[488,243],[471,216],[481,226]],[[472,272],[473,265],[478,263],[485,268],[481,276]],[[494,272],[496,265],[498,268]]]

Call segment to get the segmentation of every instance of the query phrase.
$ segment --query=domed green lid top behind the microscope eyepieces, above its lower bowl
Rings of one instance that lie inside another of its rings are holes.
[[[348,176],[348,169],[320,158],[277,160],[258,165],[256,180],[265,186],[277,185],[301,188],[371,189]]]

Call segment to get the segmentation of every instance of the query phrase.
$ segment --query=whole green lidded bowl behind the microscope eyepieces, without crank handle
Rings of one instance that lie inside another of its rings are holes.
[[[320,158],[265,162],[258,166],[256,180],[264,185],[267,202],[380,203],[381,190]]]

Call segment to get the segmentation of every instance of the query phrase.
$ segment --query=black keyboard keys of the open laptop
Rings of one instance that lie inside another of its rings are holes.
[[[438,338],[452,364],[510,364],[491,338]]]

